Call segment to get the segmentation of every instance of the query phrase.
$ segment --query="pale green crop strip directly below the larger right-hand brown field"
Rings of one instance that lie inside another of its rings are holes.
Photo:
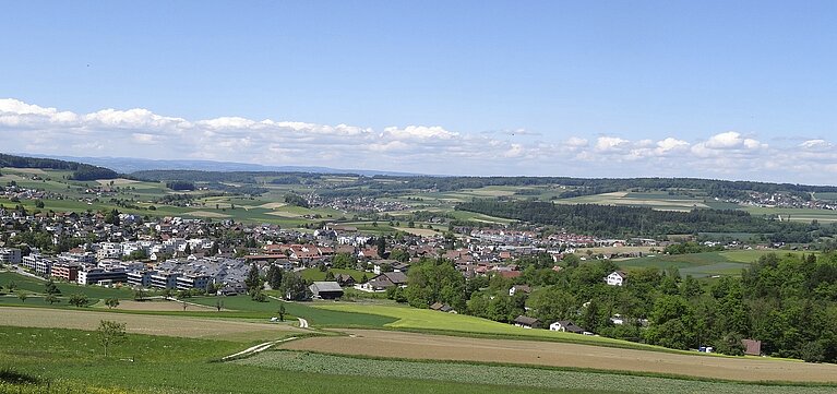
[[[314,372],[328,370],[333,374],[431,379],[461,383],[491,383],[514,386],[564,390],[612,390],[624,393],[833,393],[835,387],[763,385],[738,382],[709,382],[680,380],[655,375],[631,375],[612,372],[591,372],[578,369],[562,370],[525,368],[511,365],[465,362],[433,362],[405,359],[346,357],[310,351],[276,350],[232,361],[285,371]]]

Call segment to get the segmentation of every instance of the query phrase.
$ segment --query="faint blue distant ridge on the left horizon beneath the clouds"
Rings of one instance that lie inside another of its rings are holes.
[[[131,157],[73,157],[73,156],[51,156],[39,154],[27,154],[34,157],[48,157],[62,160],[73,160],[111,168],[119,172],[130,174],[136,171],[156,170],[156,169],[177,169],[177,170],[201,170],[201,171],[271,171],[271,172],[313,172],[313,174],[355,174],[363,176],[387,175],[387,176],[415,176],[417,174],[396,172],[383,170],[364,169],[340,169],[316,166],[264,166],[260,164],[232,163],[232,162],[213,162],[213,160],[153,160],[146,158]]]

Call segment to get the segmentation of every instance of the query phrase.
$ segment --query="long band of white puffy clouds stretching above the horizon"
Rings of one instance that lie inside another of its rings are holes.
[[[548,135],[518,134],[536,135],[523,129],[466,133],[421,124],[374,130],[243,117],[187,120],[143,108],[75,114],[0,99],[4,152],[451,175],[684,176],[827,183],[837,172],[834,144],[823,139],[769,146],[756,134],[737,131],[690,141],[674,134],[563,135],[552,141]]]

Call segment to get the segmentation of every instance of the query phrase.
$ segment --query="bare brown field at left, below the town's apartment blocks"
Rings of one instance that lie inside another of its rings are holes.
[[[0,308],[0,325],[96,330],[100,320],[125,323],[128,332],[135,334],[238,342],[277,339],[295,332],[302,332],[289,324],[46,308]]]

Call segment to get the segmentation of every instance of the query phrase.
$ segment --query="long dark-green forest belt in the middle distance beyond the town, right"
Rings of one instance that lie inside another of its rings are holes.
[[[457,205],[456,210],[553,225],[567,231],[598,237],[754,232],[767,234],[773,241],[810,242],[815,238],[837,232],[835,225],[777,222],[751,216],[743,211],[673,212],[638,206],[564,205],[538,201],[497,200],[475,200]]]

